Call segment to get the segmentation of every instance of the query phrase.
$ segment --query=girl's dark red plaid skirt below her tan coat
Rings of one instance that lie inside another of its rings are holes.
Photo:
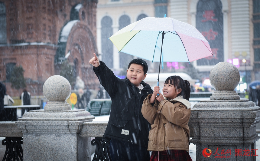
[[[150,161],[192,161],[192,159],[185,150],[165,150],[159,152],[159,160],[158,151],[152,151]]]

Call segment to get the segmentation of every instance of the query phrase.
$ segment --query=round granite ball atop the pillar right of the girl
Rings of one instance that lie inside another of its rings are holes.
[[[233,91],[239,80],[237,67],[228,62],[219,62],[210,71],[210,83],[217,91]]]

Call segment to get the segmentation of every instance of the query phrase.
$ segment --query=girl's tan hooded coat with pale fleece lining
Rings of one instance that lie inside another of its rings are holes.
[[[143,102],[142,114],[149,123],[148,150],[186,150],[189,151],[190,102],[178,96],[173,100],[157,100],[151,105],[149,94]]]

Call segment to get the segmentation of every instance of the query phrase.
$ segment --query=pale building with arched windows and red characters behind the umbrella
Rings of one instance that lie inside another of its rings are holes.
[[[124,75],[123,64],[133,57],[118,53],[107,38],[141,18],[164,14],[196,27],[209,41],[215,57],[191,64],[164,62],[167,68],[161,72],[186,72],[203,81],[215,64],[229,61],[238,67],[244,82],[260,80],[260,0],[100,0],[97,48],[102,60]],[[157,72],[156,63],[149,65],[148,72]]]

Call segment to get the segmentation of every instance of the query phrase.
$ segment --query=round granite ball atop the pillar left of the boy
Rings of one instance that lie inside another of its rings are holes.
[[[43,85],[44,97],[49,101],[64,102],[70,97],[70,82],[60,76],[49,77]]]

